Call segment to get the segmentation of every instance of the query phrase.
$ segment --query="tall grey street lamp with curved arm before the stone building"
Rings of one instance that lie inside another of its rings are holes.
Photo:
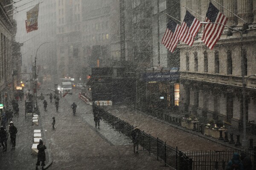
[[[243,55],[243,32],[236,30],[232,27],[226,26],[221,23],[210,23],[210,22],[200,22],[201,24],[218,24],[224,27],[227,27],[233,31],[236,31],[240,34],[240,41],[241,41],[241,65],[242,65],[242,109],[243,109],[243,139],[242,139],[242,147],[248,147],[248,140],[246,139],[246,107],[245,107],[245,65],[244,65],[244,55]]]

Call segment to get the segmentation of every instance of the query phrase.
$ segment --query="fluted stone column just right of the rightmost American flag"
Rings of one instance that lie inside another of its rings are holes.
[[[228,10],[232,11],[234,14],[237,14],[237,1],[236,0],[224,0],[223,6]],[[230,13],[229,11],[224,9],[224,14],[228,17],[227,26],[236,26],[237,25],[237,17]]]

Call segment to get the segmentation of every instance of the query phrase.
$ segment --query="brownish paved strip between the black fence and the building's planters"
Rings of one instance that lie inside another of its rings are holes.
[[[200,150],[227,150],[230,148],[238,150],[242,149],[241,147],[236,147],[235,144],[229,144],[228,142],[223,142],[221,140],[205,136],[196,131],[166,122],[162,119],[157,119],[156,117],[150,116],[146,113],[131,108],[126,108],[125,106],[105,106],[104,109],[112,113],[114,116],[117,116],[119,119],[128,122],[130,125],[140,127],[140,129],[144,130],[145,133],[151,134],[154,137],[159,137],[159,139],[166,142],[166,144],[169,144],[172,147],[177,146],[178,149],[182,150],[183,152]],[[233,131],[235,142],[236,134],[238,133],[238,131]],[[254,142],[256,142],[255,136],[247,135],[247,138],[253,138]],[[240,137],[240,142],[241,139],[242,134]]]

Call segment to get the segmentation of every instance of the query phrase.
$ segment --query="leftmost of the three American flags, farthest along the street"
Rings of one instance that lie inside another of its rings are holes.
[[[180,25],[175,23],[173,20],[169,20],[167,28],[164,33],[162,44],[173,53],[177,43],[179,42],[178,33],[180,31]]]

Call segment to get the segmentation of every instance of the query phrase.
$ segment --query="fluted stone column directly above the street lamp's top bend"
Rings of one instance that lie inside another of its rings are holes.
[[[247,23],[253,22],[253,0],[238,0],[237,1],[237,15],[245,20]],[[238,19],[238,25],[242,26],[244,21]]]

